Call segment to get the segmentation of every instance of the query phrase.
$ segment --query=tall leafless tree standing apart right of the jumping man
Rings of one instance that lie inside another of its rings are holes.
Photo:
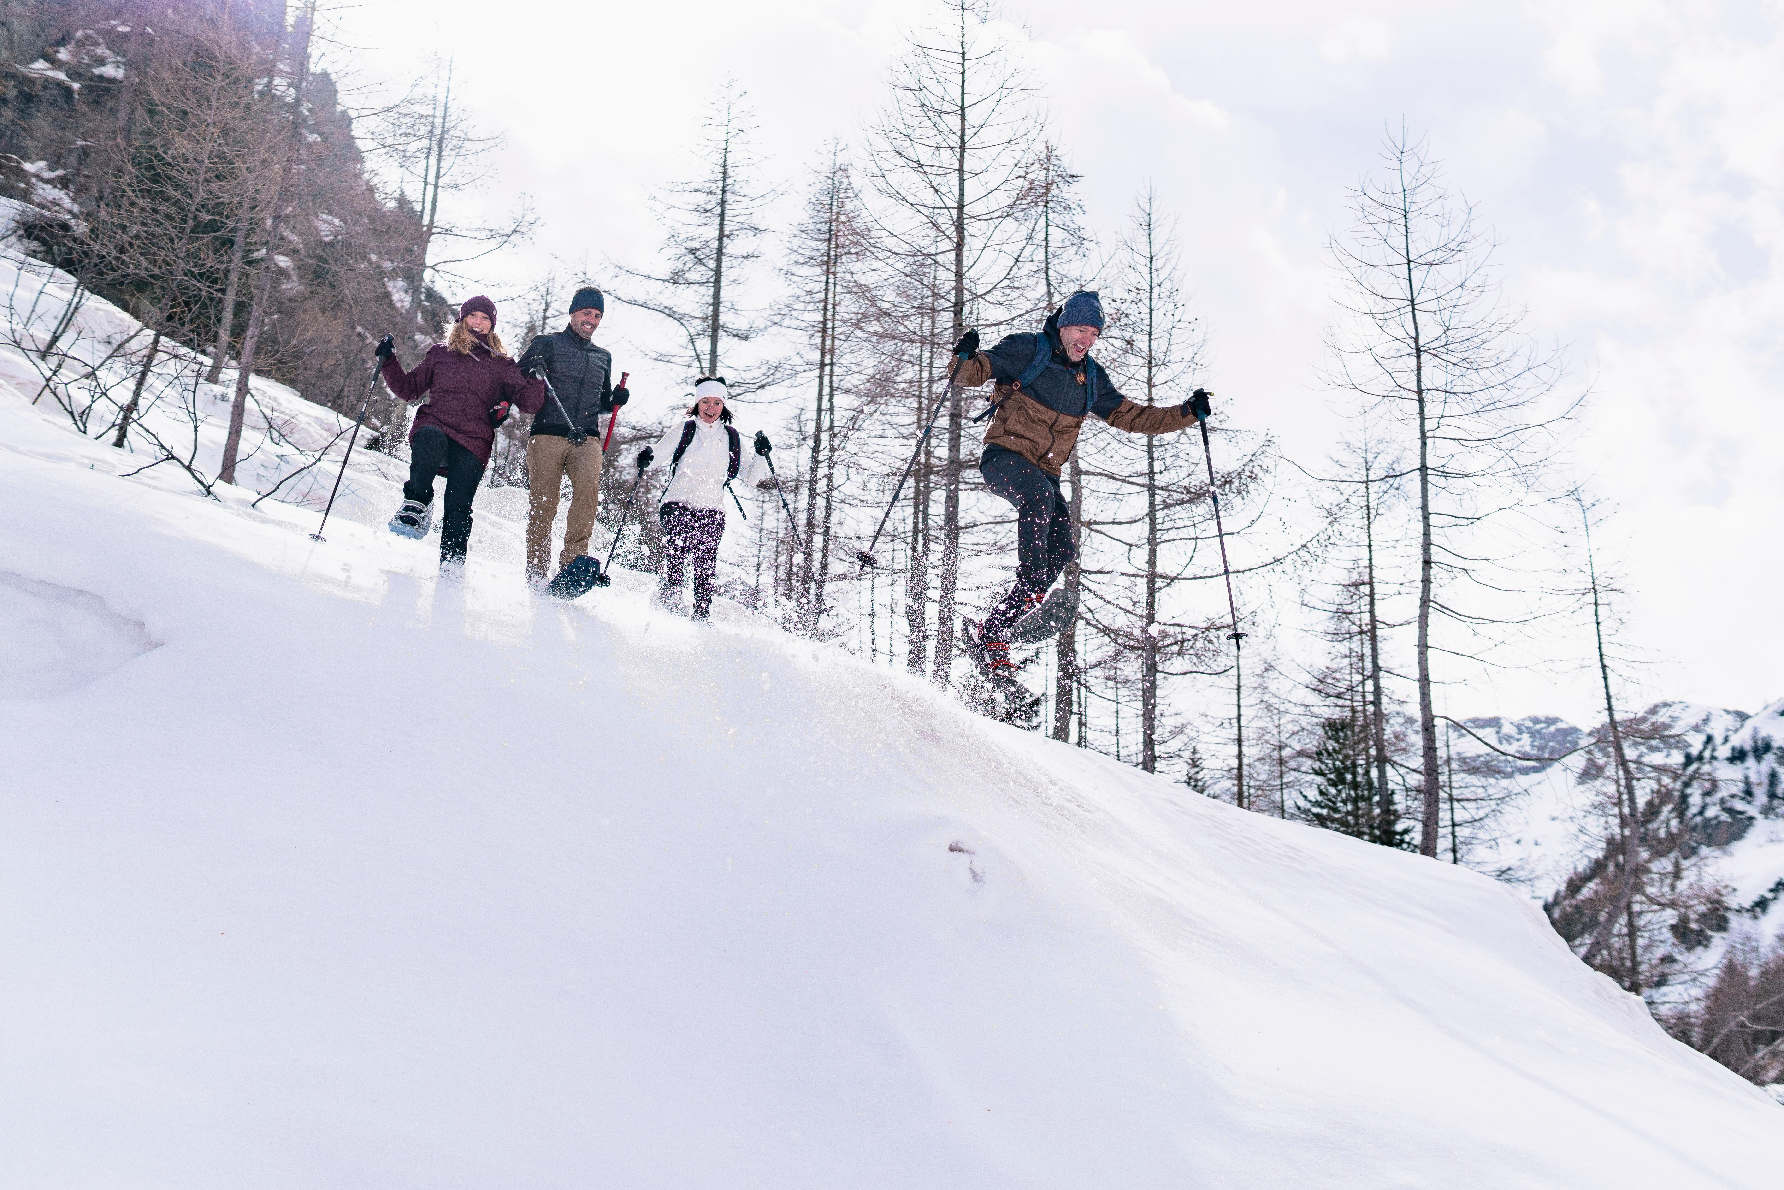
[[[1559,357],[1536,348],[1524,312],[1500,298],[1493,241],[1475,207],[1450,194],[1425,145],[1404,132],[1386,139],[1383,162],[1352,191],[1349,234],[1331,239],[1345,282],[1343,319],[1329,337],[1331,382],[1370,410],[1384,439],[1402,434],[1416,457],[1420,851],[1436,856],[1433,619],[1468,633],[1504,621],[1491,601],[1516,566],[1483,550],[1484,528],[1547,496],[1543,473],[1572,405],[1552,400]],[[1490,607],[1465,610],[1463,587]]]

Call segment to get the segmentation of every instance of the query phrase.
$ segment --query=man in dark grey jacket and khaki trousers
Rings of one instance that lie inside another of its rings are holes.
[[[542,375],[551,385],[526,441],[526,576],[541,583],[549,578],[551,523],[566,475],[571,500],[558,569],[589,553],[601,503],[601,414],[612,416],[632,396],[614,387],[614,357],[592,343],[605,310],[599,289],[578,289],[569,303],[569,326],[535,337],[521,355],[521,371]]]

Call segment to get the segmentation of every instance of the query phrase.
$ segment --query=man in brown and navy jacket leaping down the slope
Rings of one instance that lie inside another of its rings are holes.
[[[1006,335],[990,351],[979,351],[979,334],[969,330],[954,344],[954,384],[974,389],[997,382],[979,475],[1017,514],[1015,587],[985,617],[976,649],[979,669],[1006,703],[1033,703],[1015,680],[1010,630],[1040,608],[1074,555],[1072,510],[1060,494],[1060,467],[1072,457],[1079,426],[1095,414],[1129,434],[1170,434],[1208,416],[1202,389],[1183,405],[1163,407],[1135,405],[1122,396],[1090,359],[1101,334],[1103,302],[1079,291],[1047,318],[1040,334]]]

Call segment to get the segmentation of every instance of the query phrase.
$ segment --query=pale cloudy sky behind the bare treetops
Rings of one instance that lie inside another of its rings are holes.
[[[1632,699],[1757,710],[1784,696],[1777,628],[1784,448],[1784,11],[1763,4],[1106,2],[999,9],[1040,103],[1119,232],[1152,184],[1181,221],[1208,387],[1315,466],[1343,430],[1317,382],[1345,194],[1402,120],[1502,239],[1506,293],[1591,389],[1572,469],[1615,505]],[[828,137],[860,143],[922,0],[501,5],[368,0],[334,14],[366,86],[451,55],[505,136],[478,200],[528,194],[537,243],[487,269],[519,289],[548,255],[648,266],[646,198],[689,177],[715,86],[749,91],[769,182],[796,193]],[[624,353],[649,334],[612,318]],[[621,368],[628,366],[621,359]],[[648,364],[633,385],[651,387]],[[667,398],[667,393],[664,393]],[[1459,714],[1591,715],[1588,674],[1470,676]]]

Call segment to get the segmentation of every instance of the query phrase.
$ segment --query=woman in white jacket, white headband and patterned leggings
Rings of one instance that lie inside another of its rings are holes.
[[[694,562],[694,619],[712,614],[712,578],[719,569],[719,539],[724,537],[724,501],[737,500],[730,485],[760,483],[767,478],[764,462],[772,450],[760,430],[755,450],[744,450],[742,434],[731,428],[731,410],[724,407],[724,376],[701,376],[694,384],[689,419],[644,450],[642,466],[651,466],[658,450],[669,451],[669,487],[658,517],[664,526],[664,573],[657,598],[664,607],[681,610],[681,571]],[[739,500],[737,510],[744,505]]]

